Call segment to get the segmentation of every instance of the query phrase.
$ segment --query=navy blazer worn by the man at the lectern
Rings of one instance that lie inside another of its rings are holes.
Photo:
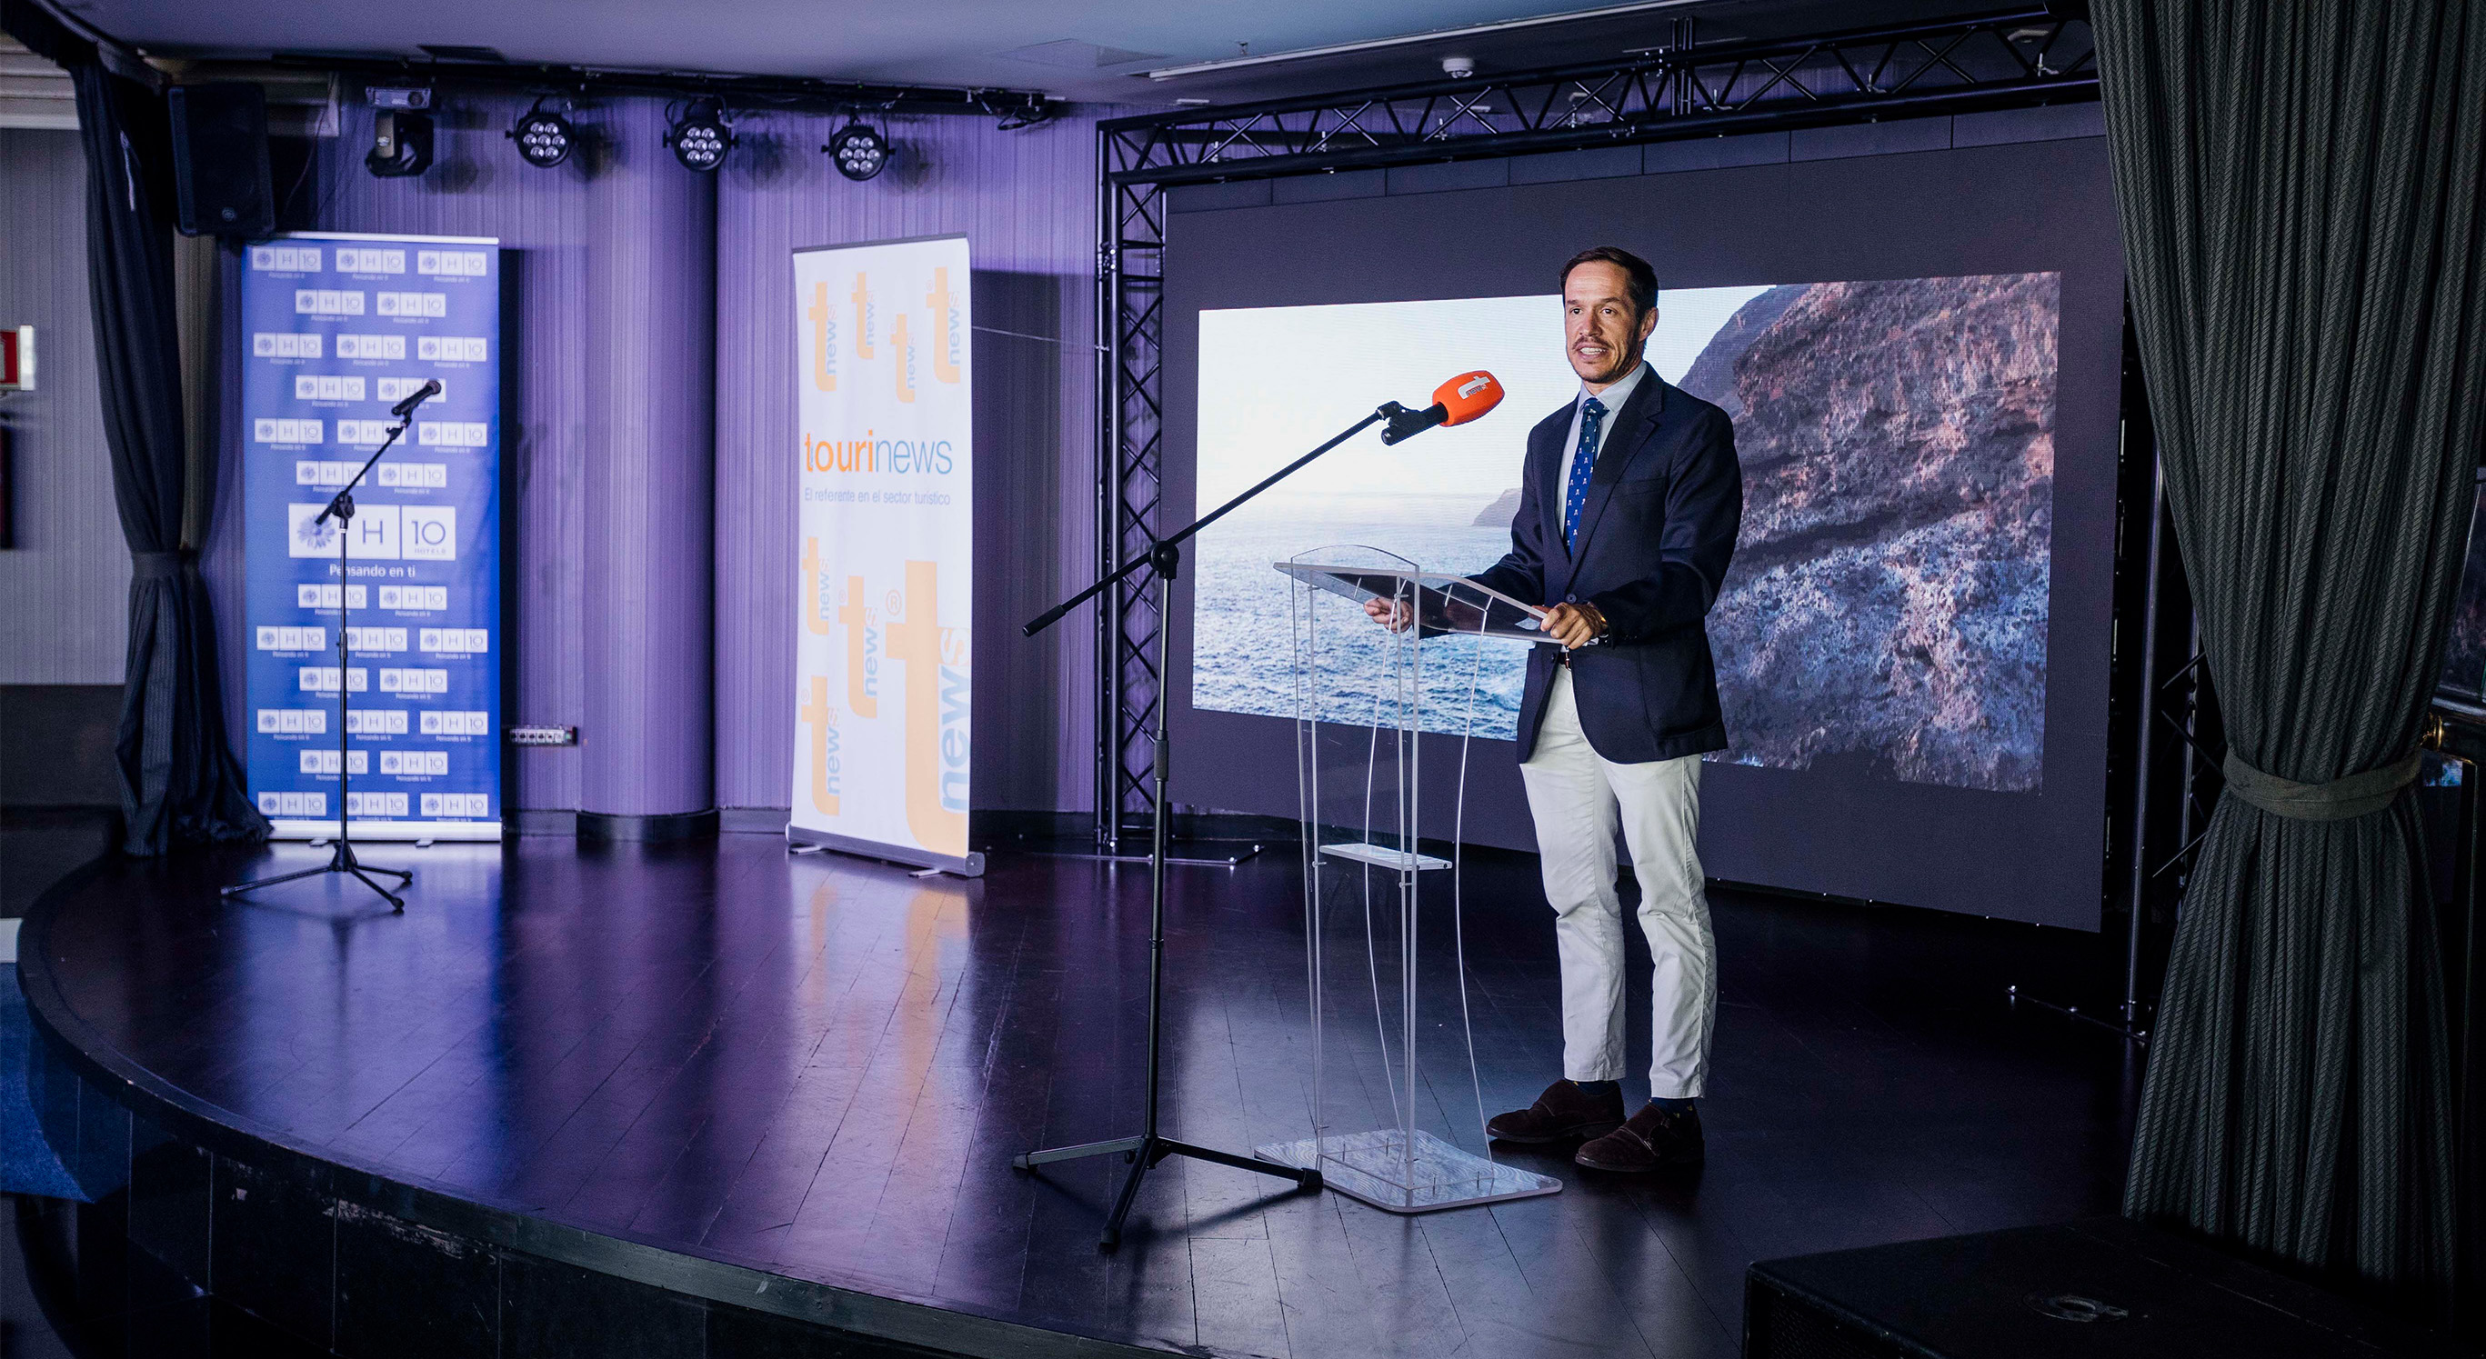
[[[1598,755],[1643,763],[1725,750],[1703,619],[1743,524],[1735,425],[1656,373],[1641,378],[1596,455],[1574,557],[1556,480],[1576,405],[1529,430],[1511,552],[1472,579],[1531,604],[1586,599],[1606,614],[1606,639],[1571,653],[1579,725]],[[1556,653],[1554,643],[1529,648],[1521,760],[1536,750]]]

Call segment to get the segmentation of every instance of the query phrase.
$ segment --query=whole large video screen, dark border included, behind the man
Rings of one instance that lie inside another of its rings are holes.
[[[1168,524],[1382,400],[1474,368],[1509,393],[1472,425],[1350,440],[1201,537],[1168,676],[1181,805],[1295,810],[1273,561],[1360,544],[1474,571],[1509,549],[1526,432],[1579,393],[1561,261],[1613,243],[1658,271],[1651,365],[1733,417],[1743,465],[1708,616],[1728,748],[1703,765],[1705,872],[2096,929],[2128,480],[2103,142],[1797,152],[1601,179],[1511,161],[1454,191],[1402,194],[1387,171],[1176,194]],[[1454,812],[1469,842],[1534,847],[1521,651],[1424,643],[1422,798],[1444,810],[1427,835]]]

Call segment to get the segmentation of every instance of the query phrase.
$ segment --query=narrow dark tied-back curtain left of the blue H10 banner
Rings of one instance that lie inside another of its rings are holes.
[[[65,67],[87,149],[87,288],[104,400],[112,494],[129,539],[129,661],[117,763],[122,847],[162,855],[191,840],[259,840],[224,733],[216,629],[194,547],[181,542],[186,445],[172,281],[172,127],[162,94],[107,70],[109,52],[25,0],[0,27]],[[122,65],[139,70],[132,60]],[[214,484],[201,477],[201,484]],[[204,522],[204,514],[199,517]]]

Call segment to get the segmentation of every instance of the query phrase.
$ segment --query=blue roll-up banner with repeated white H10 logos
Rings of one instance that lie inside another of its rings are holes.
[[[497,241],[278,236],[244,258],[241,325],[259,810],[281,840],[336,835],[351,785],[355,837],[500,840]],[[353,519],[318,524],[428,378]]]

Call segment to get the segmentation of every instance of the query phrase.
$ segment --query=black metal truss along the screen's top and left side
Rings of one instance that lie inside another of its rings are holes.
[[[1146,554],[1161,504],[1166,194],[1183,184],[1494,159],[1937,117],[2098,97],[2091,30],[2043,7],[1770,42],[1666,42],[1618,60],[1096,124],[1096,574]],[[1161,701],[1156,594],[1096,629],[1096,847],[1146,825]]]

